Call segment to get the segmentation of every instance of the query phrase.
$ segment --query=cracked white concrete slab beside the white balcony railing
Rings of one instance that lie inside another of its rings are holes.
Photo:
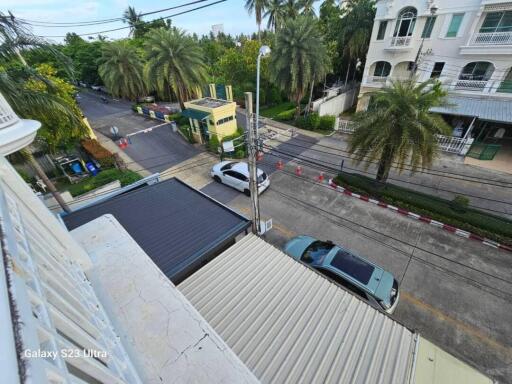
[[[144,383],[257,383],[111,215],[72,231],[86,271]]]

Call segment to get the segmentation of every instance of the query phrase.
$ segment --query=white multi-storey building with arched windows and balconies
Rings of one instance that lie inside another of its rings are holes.
[[[391,80],[439,79],[453,126],[442,149],[497,168],[512,160],[512,1],[379,0],[358,109]],[[471,148],[470,148],[471,147]],[[469,151],[469,152],[468,152]],[[508,165],[508,168],[512,168]]]

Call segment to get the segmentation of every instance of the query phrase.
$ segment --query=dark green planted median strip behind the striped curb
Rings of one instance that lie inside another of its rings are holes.
[[[392,184],[380,183],[363,175],[341,173],[336,184],[353,192],[428,216],[445,224],[488,239],[512,245],[512,221],[483,211],[464,207],[460,199],[442,199]]]

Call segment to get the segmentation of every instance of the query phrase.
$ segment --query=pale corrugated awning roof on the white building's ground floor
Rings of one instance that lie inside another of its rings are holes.
[[[478,117],[503,123],[512,123],[512,100],[490,97],[448,96],[448,107],[434,107],[431,112]]]

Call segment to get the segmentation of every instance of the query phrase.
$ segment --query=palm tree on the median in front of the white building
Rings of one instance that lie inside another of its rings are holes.
[[[377,180],[386,181],[393,163],[402,171],[407,162],[414,172],[432,164],[438,145],[436,135],[447,135],[450,127],[430,108],[446,105],[446,92],[434,80],[394,81],[370,94],[370,107],[354,117],[357,128],[348,151],[367,166],[378,160]]]

